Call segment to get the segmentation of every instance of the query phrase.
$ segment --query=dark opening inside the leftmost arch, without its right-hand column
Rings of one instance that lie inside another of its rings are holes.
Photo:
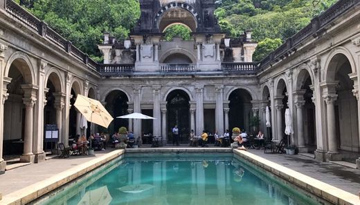
[[[10,66],[8,77],[11,81],[7,85],[8,99],[5,101],[3,113],[3,158],[6,161],[18,159],[19,155],[33,151],[33,148],[29,146],[28,150],[25,150],[26,144],[32,144],[33,135],[30,134],[27,140],[24,132],[26,124],[24,93],[28,92],[28,98],[29,92],[33,90],[24,88],[23,85],[32,83],[30,67],[23,59],[15,59]],[[19,160],[12,162],[19,162]],[[12,162],[7,162],[7,164]]]

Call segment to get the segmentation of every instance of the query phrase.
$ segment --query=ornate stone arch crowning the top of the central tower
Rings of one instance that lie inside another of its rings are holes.
[[[192,17],[192,21],[193,21],[192,23],[194,25],[187,25],[186,23],[184,24],[190,27],[192,32],[196,31],[196,28],[201,20],[199,14],[195,11],[195,8],[190,6],[188,3],[173,1],[161,7],[160,10],[155,14],[154,25],[156,25],[157,28],[159,28],[160,32],[163,32],[164,28],[168,26],[168,24],[176,23],[176,22],[170,22],[165,24],[165,26],[161,25],[161,21],[163,20],[164,14],[172,10],[185,10],[186,12],[190,13],[190,16]]]

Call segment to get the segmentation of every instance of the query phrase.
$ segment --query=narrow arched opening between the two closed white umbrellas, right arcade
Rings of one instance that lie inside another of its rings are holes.
[[[283,139],[285,135],[285,110],[289,108],[287,105],[287,86],[284,79],[278,81],[276,88],[275,108],[276,108],[276,139]],[[275,125],[273,125],[275,126]],[[285,139],[287,139],[285,137]],[[291,142],[293,143],[293,142]]]

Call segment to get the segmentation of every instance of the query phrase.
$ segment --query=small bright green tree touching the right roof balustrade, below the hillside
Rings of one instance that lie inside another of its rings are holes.
[[[265,38],[259,41],[258,47],[253,54],[253,61],[261,61],[264,57],[267,57],[270,52],[273,52],[282,44],[281,39],[269,39]]]

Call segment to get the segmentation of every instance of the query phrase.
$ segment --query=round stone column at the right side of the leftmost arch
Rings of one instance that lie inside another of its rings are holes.
[[[30,88],[33,85],[21,85],[24,90],[24,104],[25,104],[25,126],[24,126],[24,153],[20,157],[21,162],[31,162],[35,160],[33,154],[33,113],[34,105],[36,102],[36,90]]]

